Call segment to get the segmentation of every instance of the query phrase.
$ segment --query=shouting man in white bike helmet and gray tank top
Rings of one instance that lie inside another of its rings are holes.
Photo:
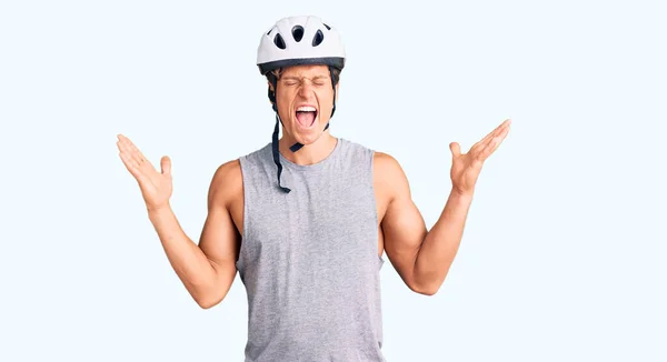
[[[262,34],[257,64],[276,111],[273,139],[216,170],[198,244],[169,204],[170,159],[158,172],[119,134],[120,158],[195,301],[220,303],[239,272],[249,302],[246,361],[385,361],[382,253],[410,290],[435,294],[481,165],[509,131],[502,122],[468,153],[450,143],[451,192],[427,231],[399,163],[329,131],[345,59],[339,34],[317,17],[281,19]]]

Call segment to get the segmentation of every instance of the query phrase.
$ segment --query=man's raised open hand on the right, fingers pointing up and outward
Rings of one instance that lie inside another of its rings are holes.
[[[496,151],[507,133],[511,121],[505,120],[494,131],[475,143],[467,153],[461,153],[457,142],[449,143],[451,150],[451,187],[460,194],[472,194],[484,162]]]

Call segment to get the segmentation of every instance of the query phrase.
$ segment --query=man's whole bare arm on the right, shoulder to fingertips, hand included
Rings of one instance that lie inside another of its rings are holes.
[[[458,143],[450,143],[452,187],[430,231],[412,201],[407,177],[398,162],[387,154],[378,157],[378,172],[389,183],[386,189],[391,190],[381,222],[385,251],[410,290],[432,295],[442,285],[462,239],[481,165],[508,131],[509,121],[505,121],[467,153],[460,153]]]

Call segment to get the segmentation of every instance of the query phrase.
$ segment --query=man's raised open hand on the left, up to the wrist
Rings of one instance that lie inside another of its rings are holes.
[[[158,172],[127,137],[118,134],[116,144],[122,163],[139,183],[147,209],[153,211],[168,207],[172,191],[171,160],[162,157],[161,172]]]

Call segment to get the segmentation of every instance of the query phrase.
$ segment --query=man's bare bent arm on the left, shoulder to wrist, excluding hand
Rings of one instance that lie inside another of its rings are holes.
[[[236,161],[216,170],[199,245],[186,235],[170,208],[149,213],[171,267],[203,309],[220,303],[236,276],[238,232],[230,217],[229,203],[240,188],[240,170]]]

